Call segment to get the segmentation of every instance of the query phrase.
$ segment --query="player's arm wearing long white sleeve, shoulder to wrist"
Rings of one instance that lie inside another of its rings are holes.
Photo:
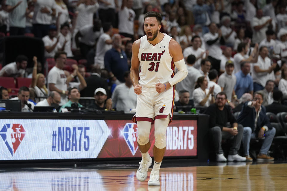
[[[187,76],[187,68],[185,65],[184,57],[182,54],[181,46],[173,38],[170,40],[169,52],[172,57],[173,63],[178,69],[178,72],[173,76],[173,78],[167,83],[167,88],[173,86],[174,84],[180,82]]]

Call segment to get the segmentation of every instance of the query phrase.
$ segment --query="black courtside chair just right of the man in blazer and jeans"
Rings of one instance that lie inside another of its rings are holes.
[[[284,160],[286,160],[284,148],[286,148],[287,145],[287,136],[285,131],[280,123],[279,118],[274,113],[267,112],[266,115],[270,120],[271,126],[276,129],[276,134],[273,139],[274,155],[278,158],[282,157]]]

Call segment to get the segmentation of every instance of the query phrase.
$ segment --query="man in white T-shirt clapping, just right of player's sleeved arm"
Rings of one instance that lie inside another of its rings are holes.
[[[202,49],[200,47],[201,45],[201,39],[199,36],[193,36],[191,39],[191,46],[187,47],[183,51],[183,56],[185,60],[187,59],[187,56],[193,54],[196,57],[196,62],[193,67],[195,67],[197,70],[200,70],[201,68],[201,59],[205,59],[206,55],[208,56],[208,51]],[[192,94],[192,93],[190,93]]]

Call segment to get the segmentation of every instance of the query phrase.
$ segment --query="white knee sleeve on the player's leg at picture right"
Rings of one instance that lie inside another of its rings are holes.
[[[155,120],[155,147],[163,149],[167,146],[166,132],[170,122],[170,115],[167,118]]]

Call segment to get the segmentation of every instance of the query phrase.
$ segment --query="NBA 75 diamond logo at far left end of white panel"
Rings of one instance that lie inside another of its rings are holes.
[[[2,127],[0,135],[12,156],[21,144],[25,134],[25,129],[21,124],[4,124]]]

